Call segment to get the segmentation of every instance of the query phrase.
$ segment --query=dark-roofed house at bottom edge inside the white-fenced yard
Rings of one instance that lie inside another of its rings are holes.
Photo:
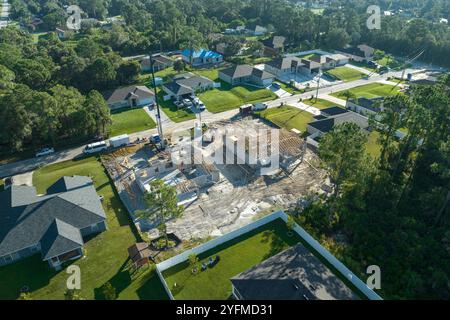
[[[303,244],[230,279],[237,300],[358,300]]]

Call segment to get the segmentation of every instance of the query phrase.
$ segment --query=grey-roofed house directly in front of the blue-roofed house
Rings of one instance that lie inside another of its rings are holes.
[[[172,99],[181,100],[192,96],[195,92],[214,88],[214,81],[193,73],[185,73],[176,77],[172,82],[162,85],[164,92]]]

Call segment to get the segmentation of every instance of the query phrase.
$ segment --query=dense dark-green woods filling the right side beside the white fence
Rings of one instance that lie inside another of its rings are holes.
[[[376,159],[354,124],[320,142],[334,193],[299,220],[362,277],[380,266],[385,298],[450,298],[449,84],[386,99],[372,123],[380,132]],[[407,132],[401,140],[399,129]]]

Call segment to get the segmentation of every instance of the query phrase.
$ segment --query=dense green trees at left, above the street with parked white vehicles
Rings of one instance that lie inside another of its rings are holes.
[[[1,148],[18,151],[105,134],[109,108],[97,90],[127,83],[138,72],[138,65],[92,40],[71,47],[50,35],[36,45],[17,28],[1,29]]]

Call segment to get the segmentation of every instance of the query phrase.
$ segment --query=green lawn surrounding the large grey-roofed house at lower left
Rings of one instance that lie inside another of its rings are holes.
[[[97,192],[104,197],[108,230],[85,244],[86,256],[72,262],[81,269],[81,295],[86,299],[101,298],[99,288],[111,282],[119,299],[167,299],[162,284],[151,269],[131,275],[127,248],[136,241],[128,214],[100,161],[94,157],[67,161],[35,171],[33,183],[39,193],[65,175],[89,175]],[[68,274],[56,272],[41,260],[40,255],[0,267],[0,299],[16,299],[19,290],[28,286],[31,297],[64,299]]]

